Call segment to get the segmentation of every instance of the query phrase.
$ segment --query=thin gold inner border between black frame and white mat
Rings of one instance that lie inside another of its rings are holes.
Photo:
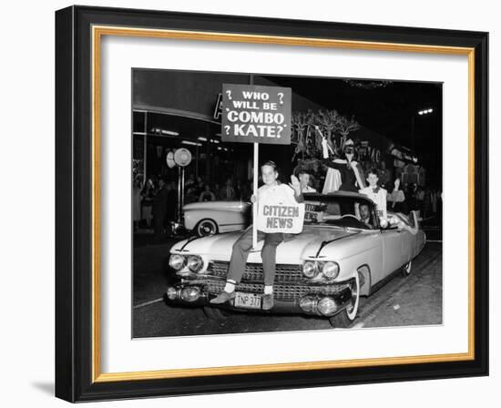
[[[444,54],[468,57],[468,352],[384,357],[322,362],[286,362],[140,372],[101,372],[100,335],[100,50],[102,36],[219,41],[231,43],[315,46],[375,51]],[[429,46],[295,36],[257,36],[217,32],[148,29],[127,26],[92,26],[92,382],[154,380],[209,375],[290,372],[335,368],[373,367],[427,362],[459,362],[475,359],[475,48]]]

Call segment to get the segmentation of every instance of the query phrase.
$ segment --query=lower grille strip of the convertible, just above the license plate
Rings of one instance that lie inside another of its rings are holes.
[[[201,281],[200,281],[201,283]],[[219,294],[225,285],[225,280],[203,280],[206,291],[211,294]],[[273,295],[277,301],[299,301],[306,294],[322,294],[324,296],[334,295],[346,289],[348,284],[337,285],[306,285],[306,284],[283,284],[273,285]],[[236,291],[262,294],[264,284],[240,282]]]

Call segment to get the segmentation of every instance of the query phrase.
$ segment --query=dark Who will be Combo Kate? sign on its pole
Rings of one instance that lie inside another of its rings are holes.
[[[259,144],[291,144],[291,88],[223,84],[221,140],[254,144],[253,194],[258,193]],[[257,205],[252,245],[257,245]]]

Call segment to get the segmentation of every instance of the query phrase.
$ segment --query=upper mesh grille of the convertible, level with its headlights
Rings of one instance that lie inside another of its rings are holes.
[[[213,261],[207,268],[207,274],[218,278],[225,278],[228,274],[230,262]],[[275,267],[275,282],[301,282],[304,280],[301,267],[299,265],[278,264]],[[245,265],[242,281],[263,282],[264,274],[261,263],[248,263]]]

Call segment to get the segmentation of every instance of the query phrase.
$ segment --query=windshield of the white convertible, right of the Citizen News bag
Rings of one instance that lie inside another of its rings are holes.
[[[342,228],[378,228],[373,205],[367,199],[316,196],[305,198],[305,224],[333,225]]]

